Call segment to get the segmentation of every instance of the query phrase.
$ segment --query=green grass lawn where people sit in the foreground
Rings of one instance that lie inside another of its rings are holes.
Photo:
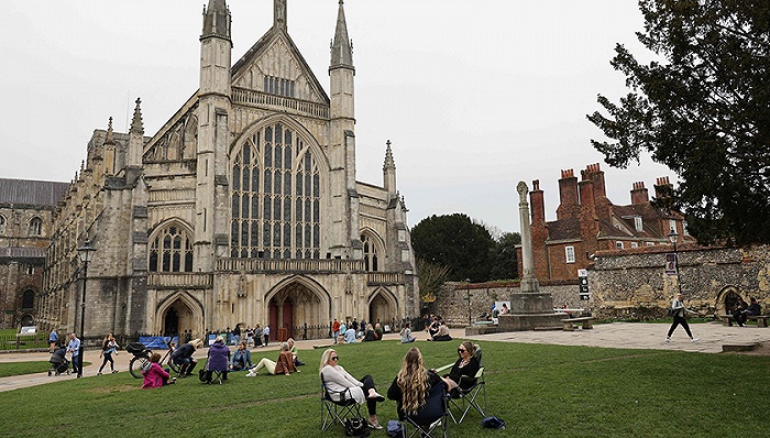
[[[419,342],[428,366],[452,362],[459,342]],[[340,346],[340,364],[372,374],[387,391],[406,350],[395,341]],[[485,430],[479,415],[450,424],[452,437],[715,437],[765,436],[770,410],[770,358],[482,342],[488,414],[506,430]],[[290,376],[231,375],[223,385],[185,379],[140,390],[128,372],[57,380],[0,396],[3,436],[342,437],[320,431],[318,361]],[[263,351],[256,350],[258,361]],[[265,352],[275,360],[276,351]],[[52,377],[53,379],[53,377]],[[362,408],[365,413],[365,407]],[[40,415],[41,413],[45,415]],[[34,413],[34,415],[31,415]],[[396,418],[380,404],[380,420]],[[386,437],[385,431],[372,436]]]

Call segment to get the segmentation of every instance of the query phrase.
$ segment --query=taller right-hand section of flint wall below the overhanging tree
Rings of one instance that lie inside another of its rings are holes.
[[[703,316],[725,313],[725,298],[735,292],[748,302],[756,297],[762,309],[770,305],[768,267],[770,248],[701,248],[678,251],[681,283],[664,272],[671,247],[656,245],[625,251],[600,251],[588,269],[591,300],[600,318],[656,319],[681,287],[688,307]]]

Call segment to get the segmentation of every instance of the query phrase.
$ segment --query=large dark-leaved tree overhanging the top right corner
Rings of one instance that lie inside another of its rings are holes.
[[[639,0],[638,40],[658,61],[622,44],[613,67],[631,90],[600,95],[587,116],[612,141],[592,140],[625,168],[646,150],[680,177],[672,202],[703,243],[770,243],[770,3]]]

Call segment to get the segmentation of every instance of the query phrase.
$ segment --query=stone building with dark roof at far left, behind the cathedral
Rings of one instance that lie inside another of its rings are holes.
[[[0,178],[0,328],[35,324],[53,211],[69,184]]]

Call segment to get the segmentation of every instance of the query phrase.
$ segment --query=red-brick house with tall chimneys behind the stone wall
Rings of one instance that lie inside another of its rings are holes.
[[[656,198],[671,189],[668,177],[658,178]],[[586,269],[591,255],[600,250],[630,249],[670,244],[671,229],[686,236],[686,223],[676,212],[656,208],[645,183],[634,183],[630,205],[614,205],[606,195],[604,172],[598,164],[581,171],[561,171],[557,220],[546,221],[540,182],[529,193],[535,274],[538,280],[578,280],[578,270]],[[521,258],[519,256],[519,272]]]

